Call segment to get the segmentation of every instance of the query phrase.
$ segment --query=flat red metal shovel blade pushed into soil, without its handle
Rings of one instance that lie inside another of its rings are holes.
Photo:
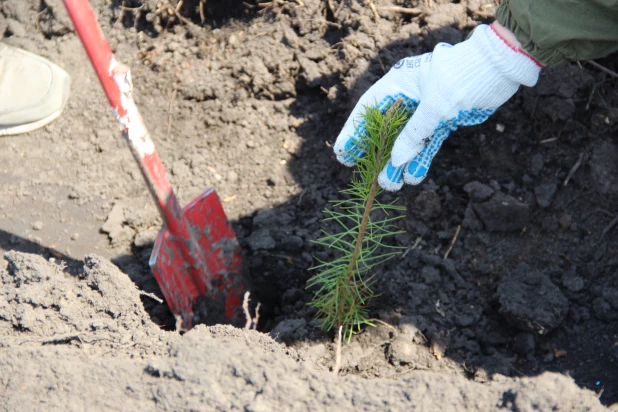
[[[163,228],[150,256],[150,267],[170,309],[181,315],[183,329],[198,323],[243,324],[240,308],[247,289],[240,246],[215,190],[207,190],[185,206],[183,217],[205,257],[206,265],[193,274],[212,287],[205,294],[200,292],[178,240]]]

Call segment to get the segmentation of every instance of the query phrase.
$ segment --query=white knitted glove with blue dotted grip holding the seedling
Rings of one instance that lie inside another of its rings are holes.
[[[398,98],[415,112],[395,141],[391,159],[380,173],[386,190],[418,184],[449,133],[484,122],[520,85],[534,86],[541,65],[480,25],[455,46],[436,45],[433,53],[400,60],[360,98],[335,143],[337,159],[352,166],[363,157],[356,145],[367,106],[383,111]]]

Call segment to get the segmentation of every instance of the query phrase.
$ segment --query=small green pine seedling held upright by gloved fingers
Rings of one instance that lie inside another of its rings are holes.
[[[317,273],[308,281],[315,289],[310,303],[317,309],[318,319],[325,331],[343,330],[343,339],[350,341],[352,335],[363,325],[372,325],[368,318],[368,301],[374,297],[371,271],[398,253],[397,247],[384,243],[399,233],[392,212],[405,207],[381,203],[376,198],[382,192],[378,175],[390,159],[395,139],[412,115],[412,110],[402,105],[403,99],[395,101],[383,113],[377,107],[366,107],[363,128],[358,132],[357,145],[365,153],[358,158],[349,187],[341,193],[345,200],[332,201],[331,208],[324,210],[325,221],[334,221],[337,233],[322,231],[316,243],[336,251],[332,261],[317,259],[312,269]],[[362,132],[361,132],[362,131]],[[340,341],[338,343],[340,348]],[[335,368],[337,370],[338,367]]]

